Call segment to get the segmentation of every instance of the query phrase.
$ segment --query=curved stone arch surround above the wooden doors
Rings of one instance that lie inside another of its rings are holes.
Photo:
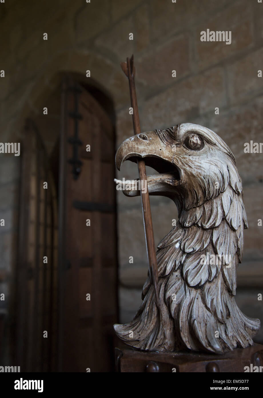
[[[86,70],[91,71],[91,77],[85,76]],[[91,84],[108,97],[112,98],[114,110],[118,111],[130,102],[127,80],[121,71],[118,62],[99,55],[95,52],[83,50],[61,51],[49,60],[43,70],[30,82],[27,92],[19,102],[16,116],[10,123],[6,121],[6,137],[19,138],[20,127],[28,116],[42,113],[43,99],[59,86],[63,74],[66,72],[77,74],[79,82]],[[127,86],[127,90],[123,87]],[[8,118],[8,113],[6,114]]]

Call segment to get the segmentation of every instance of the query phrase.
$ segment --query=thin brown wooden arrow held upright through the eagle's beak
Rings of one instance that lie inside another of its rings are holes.
[[[140,121],[139,121],[139,111],[137,105],[137,97],[135,90],[135,66],[133,64],[133,55],[131,58],[127,58],[126,62],[120,62],[122,70],[126,74],[129,80],[130,87],[130,97],[131,97],[131,107],[133,109],[132,121],[133,121],[133,131],[134,135],[141,133]],[[153,283],[153,288],[155,291],[155,301],[157,308],[159,307],[159,298],[158,298],[158,268],[157,268],[157,259],[155,252],[155,241],[153,236],[153,222],[151,216],[151,207],[150,207],[150,198],[149,191],[147,187],[147,175],[145,169],[145,161],[141,158],[137,158],[138,171],[139,171],[139,179],[141,181],[145,181],[146,192],[141,192],[141,206],[143,209],[143,225],[144,225],[144,233],[145,233],[145,241],[146,241],[146,250],[147,257],[149,262],[149,273],[151,277],[151,281]]]

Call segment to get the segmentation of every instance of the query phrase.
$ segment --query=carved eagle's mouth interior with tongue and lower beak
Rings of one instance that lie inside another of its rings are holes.
[[[137,163],[137,159],[140,159],[140,157],[137,156],[131,156],[127,158],[126,160],[130,160],[131,162]],[[145,156],[143,157],[143,160],[145,161],[145,166],[149,166],[153,168],[154,170],[157,171],[158,174],[152,174],[152,175],[147,175],[147,187],[149,190],[149,193],[158,193],[161,191],[164,191],[165,186],[167,187],[166,184],[168,185],[178,185],[180,178],[181,178],[181,172],[178,167],[174,166],[172,163],[159,158],[158,156]],[[138,178],[133,180],[136,182]],[[114,179],[116,183],[123,183],[123,181]],[[127,180],[127,184],[128,184]],[[124,194],[127,196],[135,196],[137,191],[136,183],[131,183],[129,189],[124,189]],[[126,184],[126,181],[125,181]],[[123,184],[124,185],[124,184]],[[126,191],[126,192],[125,192]]]

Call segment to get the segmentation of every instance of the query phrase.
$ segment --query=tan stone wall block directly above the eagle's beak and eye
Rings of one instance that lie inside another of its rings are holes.
[[[224,72],[222,68],[213,68],[173,84],[145,101],[141,129],[149,131],[192,122],[225,103]]]

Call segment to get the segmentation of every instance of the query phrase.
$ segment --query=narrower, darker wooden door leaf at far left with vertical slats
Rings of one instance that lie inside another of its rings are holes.
[[[50,372],[57,369],[57,194],[32,120],[23,135],[15,363],[21,372]]]

